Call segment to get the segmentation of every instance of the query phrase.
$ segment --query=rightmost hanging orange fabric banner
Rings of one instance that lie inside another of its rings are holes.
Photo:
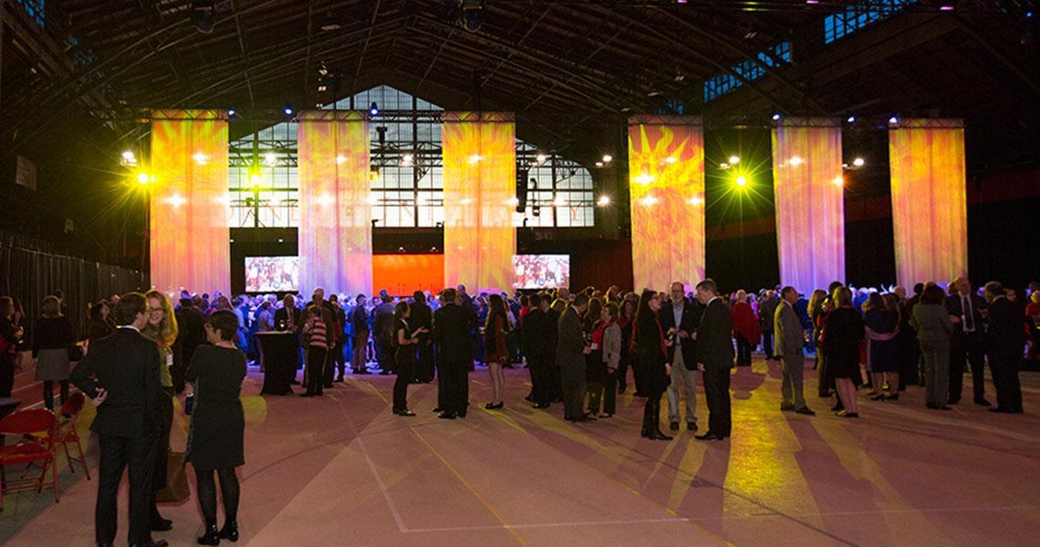
[[[947,283],[968,269],[967,175],[960,120],[900,120],[888,131],[895,279]]]

